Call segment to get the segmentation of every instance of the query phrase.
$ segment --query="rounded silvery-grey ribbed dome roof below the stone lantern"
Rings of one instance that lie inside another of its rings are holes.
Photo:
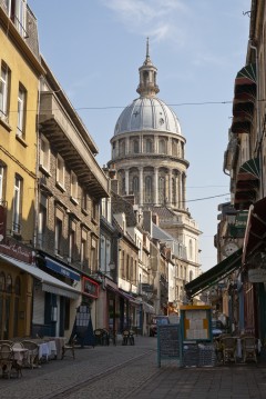
[[[122,111],[114,136],[144,130],[182,134],[174,111],[158,98],[150,96],[141,96]]]

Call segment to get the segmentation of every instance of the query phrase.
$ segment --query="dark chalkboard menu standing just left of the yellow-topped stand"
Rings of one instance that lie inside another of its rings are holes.
[[[157,363],[162,359],[180,359],[181,333],[180,325],[157,326]]]

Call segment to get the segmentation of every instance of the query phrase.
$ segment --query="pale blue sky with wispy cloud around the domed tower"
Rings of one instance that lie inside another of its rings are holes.
[[[157,97],[186,138],[186,200],[202,231],[202,270],[217,263],[218,205],[236,73],[245,66],[252,0],[28,0],[40,51],[99,148],[102,167],[122,110],[139,97],[146,38]]]

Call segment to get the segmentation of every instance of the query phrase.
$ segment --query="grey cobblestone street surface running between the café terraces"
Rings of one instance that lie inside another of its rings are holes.
[[[22,378],[0,378],[1,399],[266,399],[266,363],[178,368],[156,363],[156,338],[135,346],[76,349],[76,359],[23,369]]]

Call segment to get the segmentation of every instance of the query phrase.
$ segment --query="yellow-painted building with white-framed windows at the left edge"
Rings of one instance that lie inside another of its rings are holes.
[[[0,0],[0,339],[29,336],[37,114],[43,73],[25,0]],[[21,268],[24,265],[24,269]]]

